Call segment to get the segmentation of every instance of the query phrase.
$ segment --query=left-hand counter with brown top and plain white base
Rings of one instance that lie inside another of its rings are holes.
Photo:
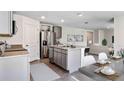
[[[29,53],[27,50],[5,51],[0,56],[0,81],[30,80]]]

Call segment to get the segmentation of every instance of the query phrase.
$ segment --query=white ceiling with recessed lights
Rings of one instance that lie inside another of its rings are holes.
[[[84,29],[111,29],[112,18],[124,15],[124,12],[111,11],[15,11],[14,13],[37,19],[44,23],[64,25]],[[82,16],[77,14],[81,13]],[[41,19],[45,16],[45,19]],[[64,23],[61,23],[64,19]],[[87,23],[88,24],[85,24]]]

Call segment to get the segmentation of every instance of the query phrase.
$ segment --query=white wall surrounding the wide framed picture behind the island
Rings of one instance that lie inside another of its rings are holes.
[[[87,37],[86,37],[86,30],[79,29],[79,28],[73,28],[73,27],[62,27],[62,38],[59,40],[61,43],[64,44],[73,44],[78,46],[87,46]],[[83,42],[67,42],[67,35],[84,35],[84,41]]]

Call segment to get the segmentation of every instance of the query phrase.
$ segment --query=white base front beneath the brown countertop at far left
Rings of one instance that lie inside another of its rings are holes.
[[[0,59],[0,81],[29,80],[30,66],[27,56]]]

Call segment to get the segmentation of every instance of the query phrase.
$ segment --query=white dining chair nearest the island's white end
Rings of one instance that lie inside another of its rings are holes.
[[[81,67],[86,67],[94,63],[96,63],[96,60],[92,55],[84,56],[81,61]]]

